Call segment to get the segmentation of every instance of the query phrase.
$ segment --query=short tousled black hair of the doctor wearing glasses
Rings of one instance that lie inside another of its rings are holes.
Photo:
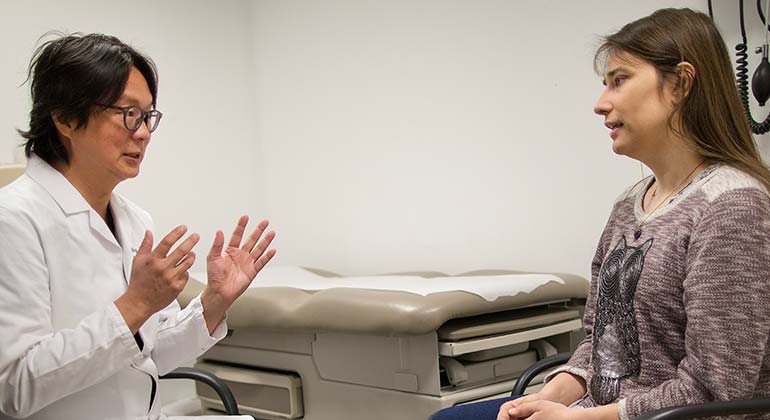
[[[26,139],[27,157],[34,153],[49,164],[67,164],[69,155],[54,115],[76,128],[85,127],[96,104],[113,104],[120,98],[131,67],[144,76],[155,107],[158,76],[149,57],[113,36],[49,34],[58,38],[43,43],[32,55],[27,73],[32,96],[29,131],[19,134]]]

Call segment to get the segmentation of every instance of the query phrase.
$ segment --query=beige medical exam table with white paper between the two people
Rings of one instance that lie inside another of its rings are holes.
[[[191,275],[182,305],[204,287],[196,278],[205,275]],[[574,350],[587,291],[569,274],[347,278],[268,267],[196,367],[225,380],[241,413],[257,418],[424,420],[509,395],[532,363]],[[208,412],[222,409],[210,389],[197,392]]]

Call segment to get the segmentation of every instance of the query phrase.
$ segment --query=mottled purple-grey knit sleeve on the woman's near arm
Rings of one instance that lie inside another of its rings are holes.
[[[770,202],[758,189],[717,197],[690,238],[685,357],[676,376],[620,400],[622,418],[662,407],[750,399],[770,333]]]

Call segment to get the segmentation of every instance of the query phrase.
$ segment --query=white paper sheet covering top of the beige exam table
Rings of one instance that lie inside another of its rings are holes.
[[[190,276],[205,282],[205,273],[190,273]],[[249,288],[293,287],[314,291],[355,288],[409,292],[422,296],[459,290],[473,293],[492,302],[501,296],[530,293],[548,282],[565,284],[564,280],[553,274],[502,274],[433,278],[405,275],[324,277],[297,266],[268,266],[257,275]]]

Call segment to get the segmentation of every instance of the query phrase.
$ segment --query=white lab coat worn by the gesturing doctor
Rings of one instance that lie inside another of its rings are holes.
[[[119,242],[58,171],[33,156],[0,189],[0,419],[158,419],[152,381],[224,337],[199,299],[174,302],[139,330],[114,305],[150,216],[113,194]],[[158,235],[156,235],[158,237]]]

